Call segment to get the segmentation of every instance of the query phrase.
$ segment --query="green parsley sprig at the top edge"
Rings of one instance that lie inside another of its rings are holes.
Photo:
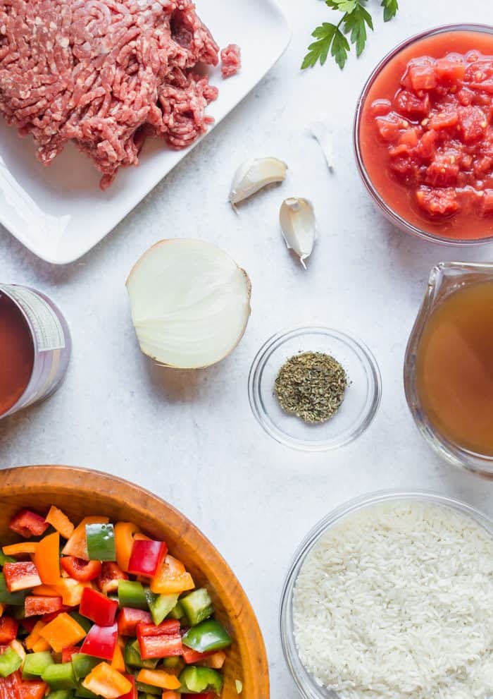
[[[312,32],[316,41],[308,47],[301,68],[311,68],[317,61],[323,66],[329,51],[339,68],[344,68],[351,50],[349,42],[356,46],[356,55],[361,56],[366,44],[367,27],[373,31],[373,21],[366,9],[367,2],[368,0],[325,0],[325,4],[332,10],[342,12],[342,17],[337,24],[324,22]],[[381,6],[384,22],[388,22],[396,16],[399,0],[382,0]]]

